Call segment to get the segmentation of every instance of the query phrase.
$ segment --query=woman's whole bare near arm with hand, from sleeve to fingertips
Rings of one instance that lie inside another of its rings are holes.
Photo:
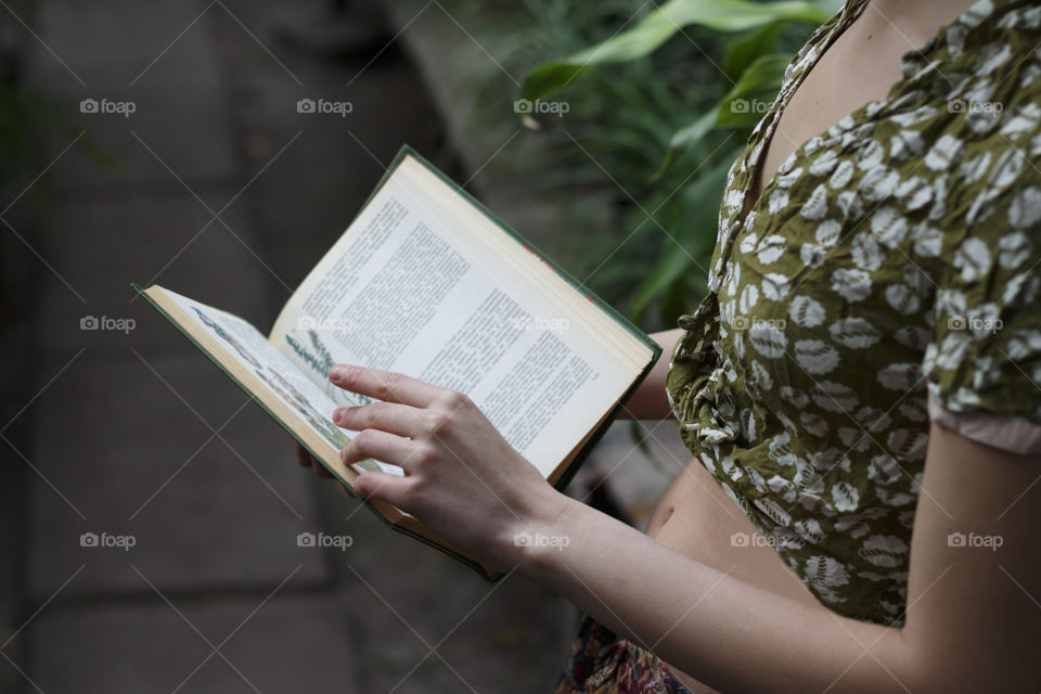
[[[567,499],[458,393],[360,368],[334,370],[333,378],[384,400],[334,414],[363,429],[344,449],[345,462],[374,457],[408,473],[367,472],[356,484],[361,496],[413,513],[493,565],[519,567],[716,689],[1037,691],[1041,563],[1030,534],[1041,505],[1028,498],[1041,493],[1041,486],[1029,491],[1037,460],[933,427],[907,626],[887,629],[754,588]],[[952,530],[1004,542],[998,552],[949,547]],[[568,542],[516,547],[522,532]]]

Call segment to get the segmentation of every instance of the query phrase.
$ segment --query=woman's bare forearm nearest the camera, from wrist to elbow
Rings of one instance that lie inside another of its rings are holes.
[[[913,679],[899,630],[754,588],[573,500],[540,513],[532,535],[567,542],[520,548],[522,574],[719,691],[885,694]]]

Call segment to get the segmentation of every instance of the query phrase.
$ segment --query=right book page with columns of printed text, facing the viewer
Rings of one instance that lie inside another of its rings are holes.
[[[337,403],[357,398],[327,384],[334,363],[465,393],[549,476],[640,371],[471,229],[458,194],[399,174],[297,290],[270,340]]]

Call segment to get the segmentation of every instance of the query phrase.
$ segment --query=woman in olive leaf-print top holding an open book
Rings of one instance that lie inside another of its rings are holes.
[[[796,56],[709,292],[627,403],[694,455],[646,535],[465,397],[343,367],[385,401],[335,413],[364,429],[345,462],[408,472],[357,491],[589,614],[558,692],[1037,692],[1039,27],[1021,0],[850,0]]]

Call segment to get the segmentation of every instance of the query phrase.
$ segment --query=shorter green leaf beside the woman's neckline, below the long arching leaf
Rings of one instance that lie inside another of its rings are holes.
[[[710,130],[755,125],[762,118],[766,106],[773,102],[791,57],[787,55],[773,53],[763,55],[749,65],[718,104],[691,125],[677,130],[669,143],[669,152],[661,169],[655,176],[659,177],[669,170],[691,145]]]

